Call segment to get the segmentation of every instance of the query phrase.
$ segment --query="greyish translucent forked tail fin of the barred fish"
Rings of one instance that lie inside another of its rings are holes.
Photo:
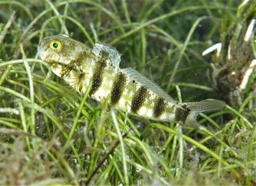
[[[188,102],[185,104],[190,109],[190,112],[184,124],[192,128],[200,127],[197,122],[199,113],[218,111],[225,107],[225,102],[221,100],[205,100],[200,102]]]

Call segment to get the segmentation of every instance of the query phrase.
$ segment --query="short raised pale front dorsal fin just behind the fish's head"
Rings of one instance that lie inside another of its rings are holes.
[[[96,42],[93,46],[93,52],[109,60],[114,66],[119,67],[121,54],[107,43]]]

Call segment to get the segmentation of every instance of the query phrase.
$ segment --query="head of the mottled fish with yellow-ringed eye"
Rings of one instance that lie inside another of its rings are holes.
[[[53,67],[69,67],[78,63],[89,50],[85,44],[65,34],[45,37],[37,46],[40,58]]]

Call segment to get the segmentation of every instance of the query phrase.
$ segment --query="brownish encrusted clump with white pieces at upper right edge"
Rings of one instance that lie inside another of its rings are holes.
[[[236,108],[256,92],[253,83],[256,65],[255,9],[255,1],[242,3],[238,7],[236,20],[230,25],[222,24],[222,29],[226,31],[221,35],[221,48],[212,64],[213,80],[218,86],[220,97]]]

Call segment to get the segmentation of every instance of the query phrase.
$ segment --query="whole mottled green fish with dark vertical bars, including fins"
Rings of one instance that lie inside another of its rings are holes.
[[[198,127],[195,119],[200,112],[225,106],[220,100],[178,104],[139,72],[119,68],[121,55],[108,44],[95,43],[91,49],[66,35],[57,35],[44,38],[38,45],[38,54],[56,75],[81,94],[92,81],[91,98],[108,100],[113,107],[133,115],[194,128]]]

